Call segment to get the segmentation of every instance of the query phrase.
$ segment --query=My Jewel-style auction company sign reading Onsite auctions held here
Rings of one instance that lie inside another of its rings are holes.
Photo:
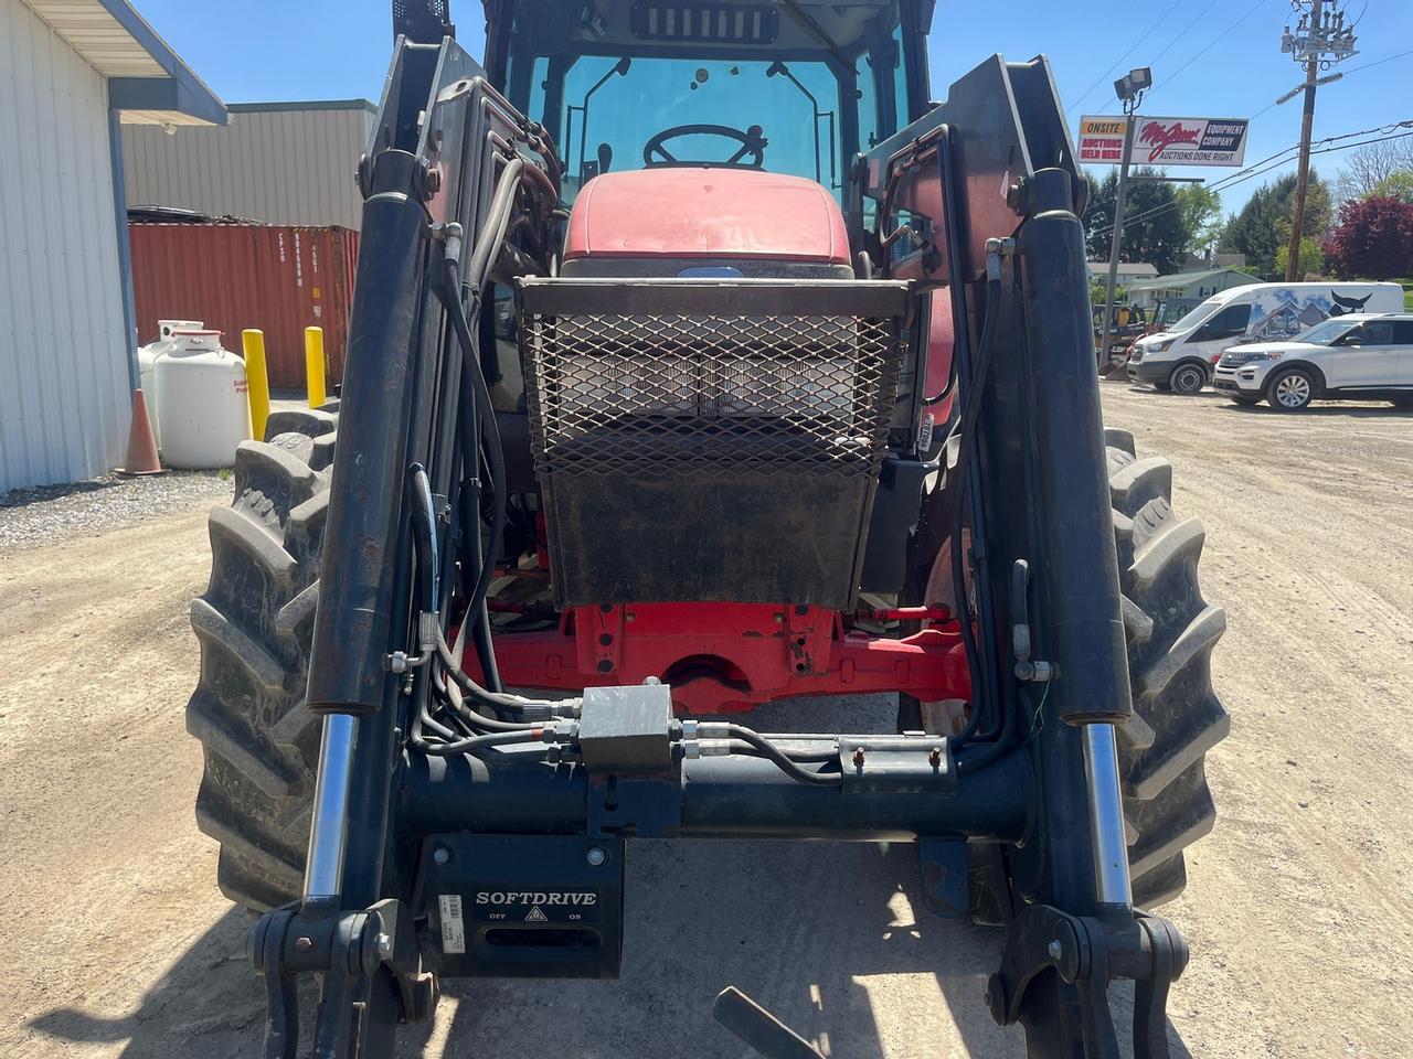
[[[1241,165],[1246,158],[1245,117],[1143,117],[1133,128],[1130,165]],[[1080,161],[1116,165],[1123,160],[1123,119],[1080,119]]]

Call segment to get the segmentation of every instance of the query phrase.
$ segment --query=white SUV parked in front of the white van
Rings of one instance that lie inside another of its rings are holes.
[[[1413,313],[1331,316],[1291,342],[1232,346],[1212,373],[1236,404],[1297,412],[1316,398],[1413,408]]]

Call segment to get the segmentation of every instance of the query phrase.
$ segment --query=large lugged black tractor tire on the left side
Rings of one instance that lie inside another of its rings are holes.
[[[309,837],[318,726],[304,692],[335,425],[281,412],[268,442],[240,445],[235,498],[211,513],[211,585],[191,606],[196,823],[220,843],[220,890],[257,911],[298,895]]]

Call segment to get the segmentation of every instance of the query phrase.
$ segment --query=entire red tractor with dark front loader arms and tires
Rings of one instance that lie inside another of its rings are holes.
[[[644,837],[916,843],[1027,1055],[1116,1056],[1119,980],[1169,1055],[1224,617],[1102,425],[1048,65],[930,103],[931,7],[495,0],[480,65],[394,4],[341,401],[240,448],[192,607],[270,1059],[301,976],[325,1059],[445,979],[616,977]],[[745,723],[863,693],[892,730]]]

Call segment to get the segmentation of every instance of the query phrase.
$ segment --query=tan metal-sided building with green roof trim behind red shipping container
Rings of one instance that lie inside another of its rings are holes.
[[[353,174],[377,107],[366,99],[232,103],[225,128],[123,130],[127,201],[267,225],[357,230]]]

